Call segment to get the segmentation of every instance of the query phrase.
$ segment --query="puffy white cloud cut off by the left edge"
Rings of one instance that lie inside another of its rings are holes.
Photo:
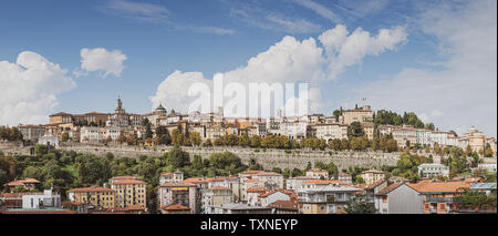
[[[21,52],[15,63],[0,61],[0,124],[46,123],[58,105],[56,95],[76,86],[66,74],[30,51]]]

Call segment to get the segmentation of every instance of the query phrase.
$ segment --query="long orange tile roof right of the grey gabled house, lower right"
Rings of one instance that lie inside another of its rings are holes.
[[[448,181],[448,182],[432,182],[432,181],[421,181],[416,184],[408,184],[409,187],[414,188],[419,193],[456,193],[461,192],[459,188],[468,188],[471,183],[459,182],[459,181]]]

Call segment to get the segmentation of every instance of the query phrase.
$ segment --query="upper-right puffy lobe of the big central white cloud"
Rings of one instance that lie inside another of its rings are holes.
[[[381,29],[377,35],[371,35],[362,28],[357,28],[350,35],[347,33],[347,29],[339,24],[319,37],[330,59],[330,79],[343,73],[346,66],[357,64],[366,55],[395,50],[396,45],[407,40],[404,27]]]

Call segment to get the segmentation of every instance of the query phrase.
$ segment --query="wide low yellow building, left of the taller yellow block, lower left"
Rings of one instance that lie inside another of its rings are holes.
[[[114,208],[115,192],[107,187],[83,187],[69,192],[71,202]]]

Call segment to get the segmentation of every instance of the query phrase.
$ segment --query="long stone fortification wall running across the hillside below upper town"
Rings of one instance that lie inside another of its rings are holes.
[[[138,147],[138,146],[105,146],[105,145],[80,145],[80,144],[62,144],[61,150],[74,150],[80,153],[95,154],[104,156],[107,152],[112,152],[115,157],[134,157],[138,158],[141,155],[159,156],[168,152],[172,146],[156,146]],[[400,158],[400,153],[382,153],[382,152],[334,152],[334,151],[311,151],[311,150],[292,150],[286,152],[284,150],[255,150],[240,147],[181,147],[190,154],[190,160],[194,155],[200,155],[201,158],[209,158],[212,153],[231,152],[238,155],[243,164],[256,162],[261,164],[264,168],[280,167],[280,168],[305,168],[308,162],[314,164],[317,161],[323,163],[333,162],[339,170],[347,168],[350,166],[359,165],[362,167],[382,165],[396,165]]]

